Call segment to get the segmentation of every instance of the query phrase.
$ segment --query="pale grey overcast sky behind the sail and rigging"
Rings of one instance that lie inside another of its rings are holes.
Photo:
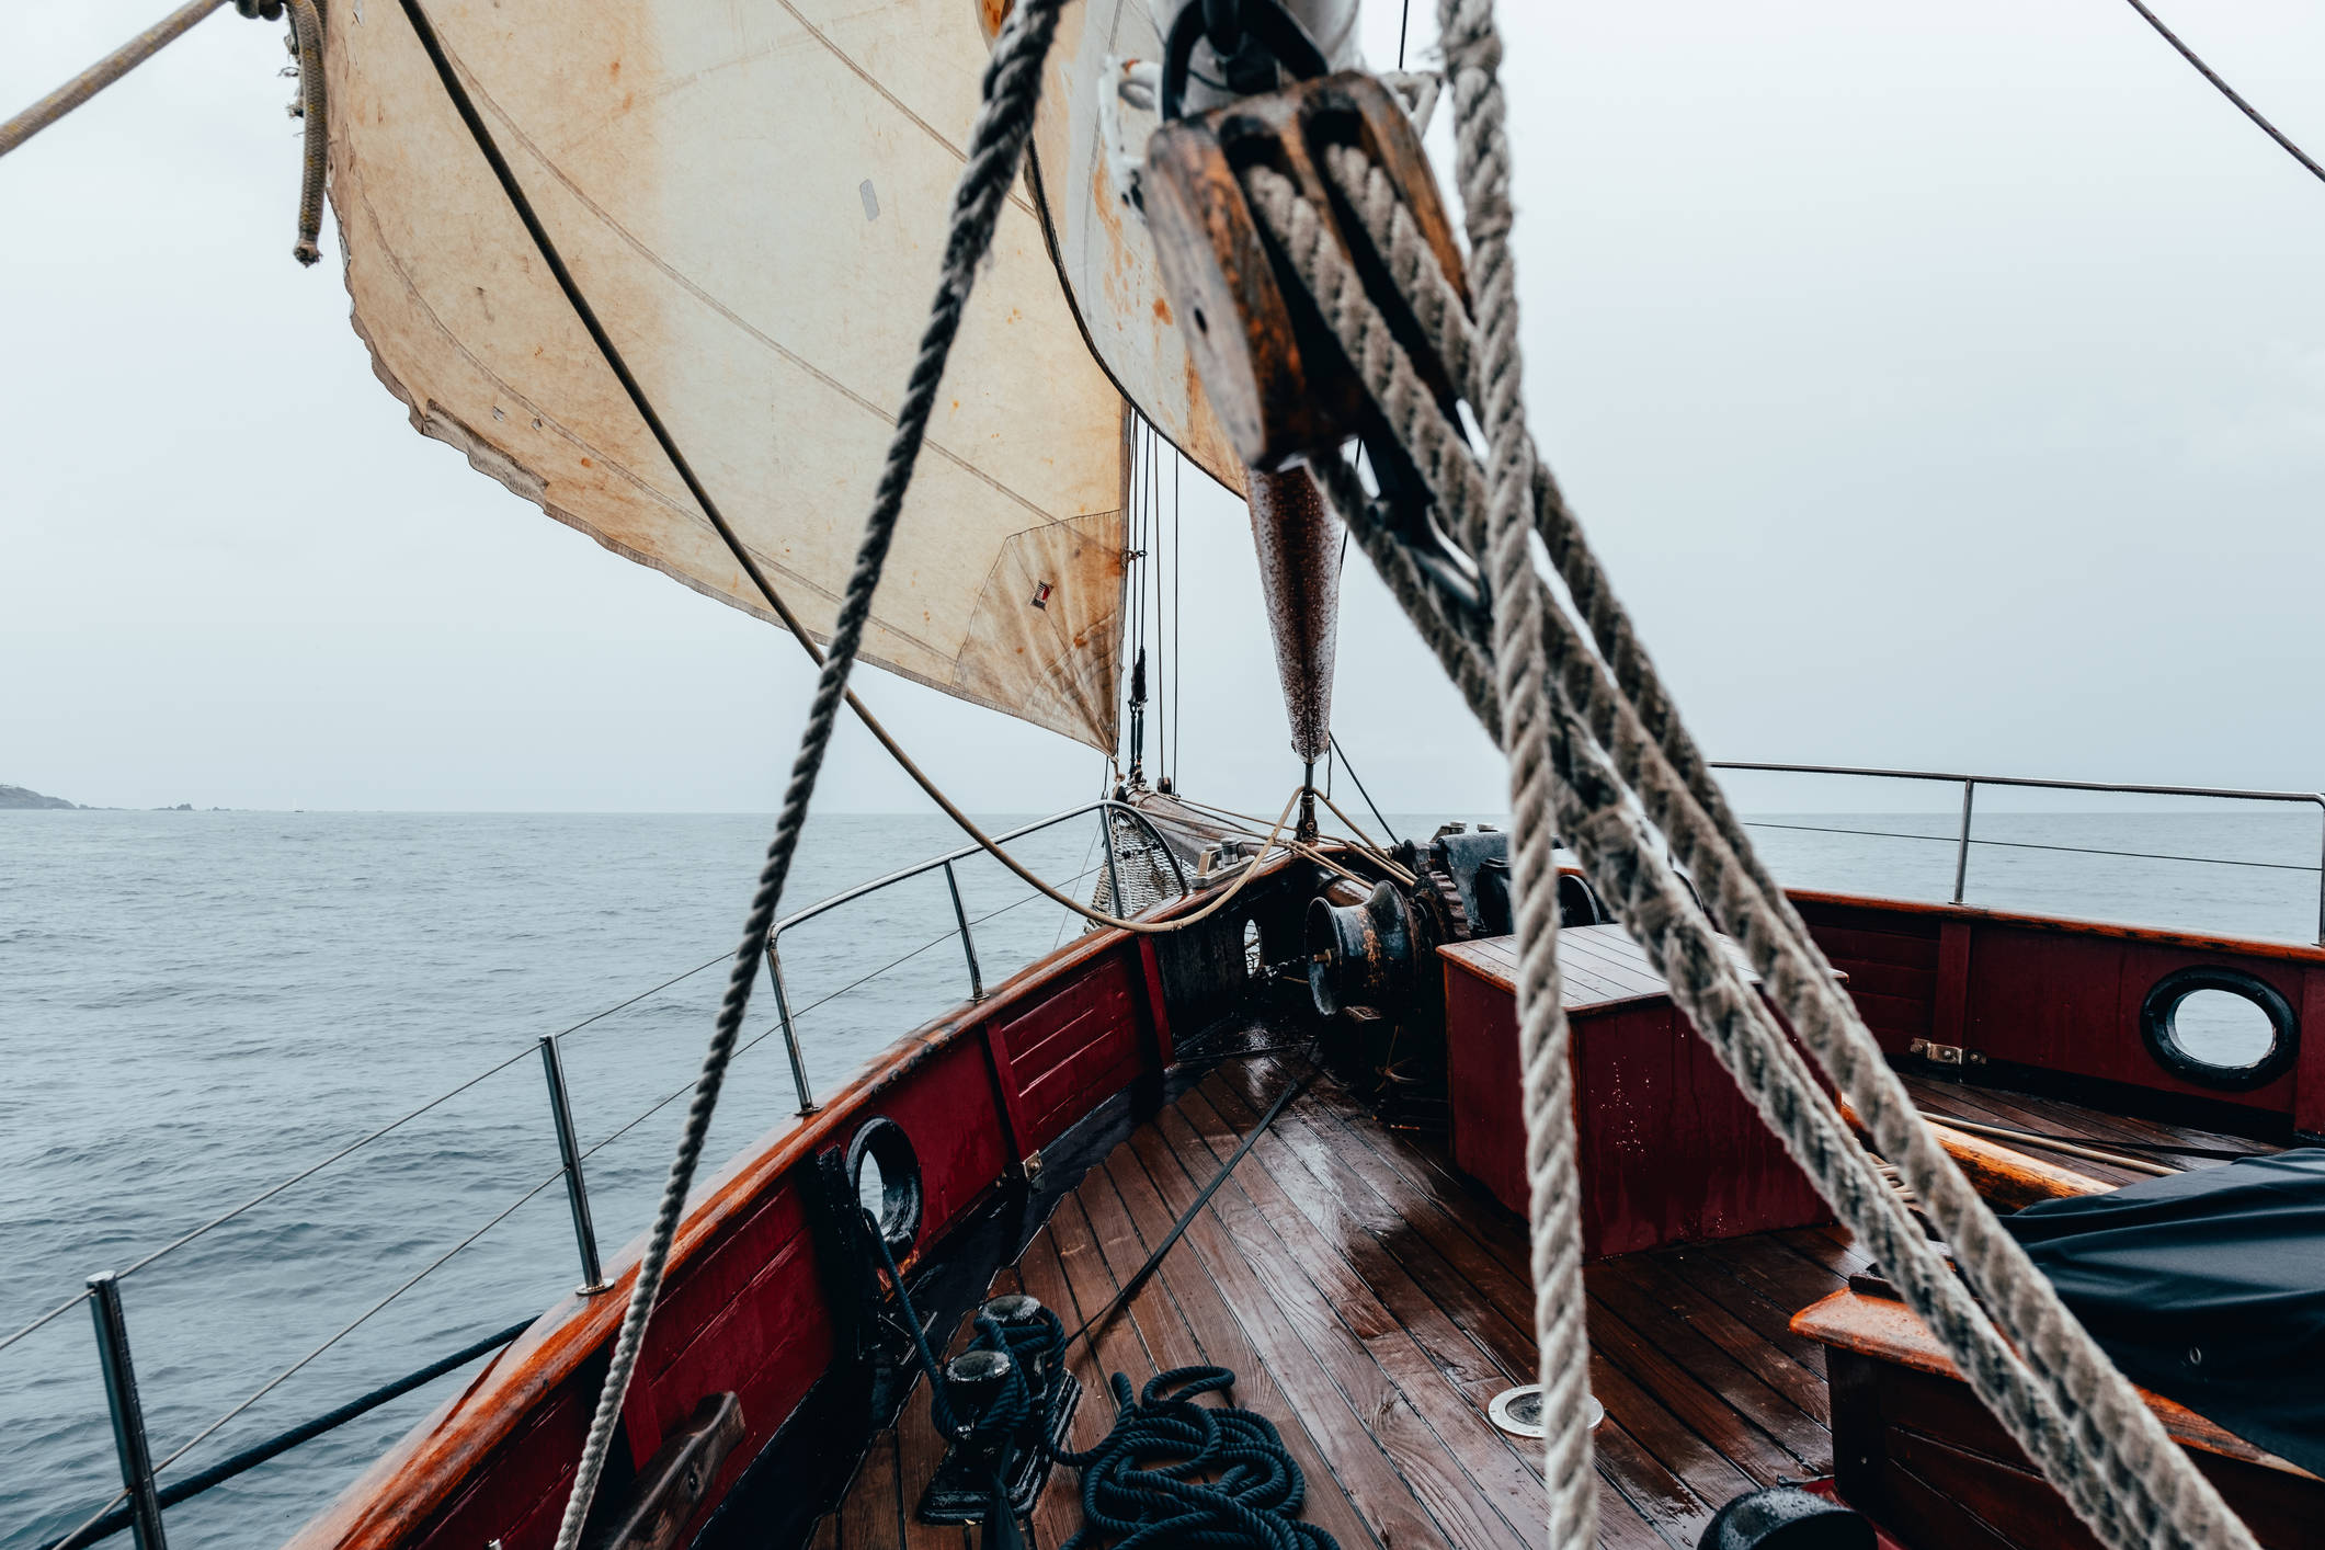
[[[163,9],[16,0],[0,112]],[[2325,785],[2325,186],[2120,0],[1502,9],[1537,435],[1711,751]],[[2325,5],[2165,9],[2325,153]],[[797,648],[407,428],[328,223],[288,258],[281,58],[221,14],[0,160],[0,781],[770,809]],[[1183,778],[1274,811],[1249,530],[1186,488]],[[1337,727],[1374,795],[1497,811],[1497,758],[1348,579]],[[1097,783],[1058,737],[863,690],[970,806]],[[823,802],[918,797],[849,732]]]

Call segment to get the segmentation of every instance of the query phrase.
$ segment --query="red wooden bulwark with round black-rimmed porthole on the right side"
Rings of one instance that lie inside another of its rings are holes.
[[[2283,1115],[2325,1132],[2325,948],[2237,941],[1962,904],[1897,904],[1795,892],[1795,904],[1888,1055],[1913,1039],[1990,1062],[2148,1088]],[[2148,1053],[2139,1009],[2176,969],[2241,969],[2292,1006],[2292,1067],[2232,1092],[2192,1083]]]

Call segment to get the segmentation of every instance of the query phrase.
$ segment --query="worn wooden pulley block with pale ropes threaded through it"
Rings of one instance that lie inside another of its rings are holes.
[[[1421,235],[1437,249],[1453,286],[1462,258],[1453,244],[1421,137],[1404,107],[1360,70],[1239,98],[1156,130],[1146,144],[1142,195],[1162,286],[1202,372],[1204,393],[1244,462],[1281,469],[1304,453],[1342,446],[1367,430],[1362,386],[1300,279],[1262,232],[1242,177],[1267,165],[1288,177],[1323,214],[1367,290],[1395,323],[1404,307],[1388,286],[1362,228],[1323,170],[1328,146],[1355,146],[1397,186]],[[1353,239],[1351,239],[1353,237]],[[1444,365],[1400,325],[1416,369],[1448,407],[1458,397]]]

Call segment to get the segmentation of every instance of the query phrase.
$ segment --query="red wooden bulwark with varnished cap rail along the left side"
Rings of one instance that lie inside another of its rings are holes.
[[[902,1125],[921,1164],[921,1246],[935,1246],[1009,1169],[1167,1060],[1153,948],[1093,932],[895,1043],[821,1113],[763,1136],[698,1187],[679,1229],[623,1408],[632,1462],[707,1394],[735,1392],[744,1438],[704,1494],[707,1517],[830,1366],[835,1320],[802,1194],[816,1153],[844,1148],[874,1115]],[[639,1250],[609,1266],[611,1292],[551,1308],[293,1548],[546,1550]]]

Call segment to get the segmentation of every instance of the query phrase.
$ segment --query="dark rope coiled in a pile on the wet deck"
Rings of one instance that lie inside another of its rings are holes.
[[[1258,1411],[1195,1404],[1235,1387],[1225,1366],[1174,1366],[1132,1399],[1114,1373],[1114,1429],[1088,1452],[1058,1452],[1081,1471],[1081,1529],[1065,1550],[1339,1550],[1295,1517],[1307,1478]],[[1209,1476],[1197,1480],[1197,1476]]]

